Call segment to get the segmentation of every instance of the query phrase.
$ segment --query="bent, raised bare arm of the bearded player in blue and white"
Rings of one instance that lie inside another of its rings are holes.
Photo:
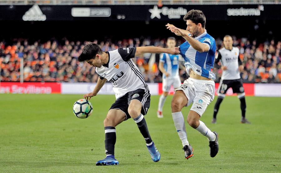
[[[209,51],[209,46],[207,44],[200,43],[200,41],[195,40],[194,38],[189,36],[189,31],[177,28],[174,25],[169,24],[169,23],[166,26],[167,26],[167,29],[169,29],[171,32],[175,33],[175,35],[182,36],[186,41],[188,41],[190,46],[192,46],[198,52]]]

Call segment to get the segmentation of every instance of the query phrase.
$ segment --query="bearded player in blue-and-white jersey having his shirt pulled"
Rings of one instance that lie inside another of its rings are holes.
[[[212,132],[199,119],[214,99],[215,84],[213,79],[215,79],[215,75],[212,70],[216,44],[214,38],[205,30],[206,17],[202,11],[190,10],[185,14],[184,20],[187,25],[186,30],[179,29],[169,23],[166,25],[167,29],[186,40],[180,45],[180,55],[185,60],[185,68],[190,76],[184,81],[184,84],[175,89],[171,103],[172,117],[185,151],[185,158],[189,159],[193,156],[193,148],[187,140],[181,109],[193,103],[187,116],[187,122],[208,138],[210,156],[214,157],[219,151],[218,134]]]

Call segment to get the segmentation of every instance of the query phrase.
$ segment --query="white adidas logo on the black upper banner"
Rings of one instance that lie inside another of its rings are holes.
[[[24,21],[45,21],[46,15],[44,15],[37,4],[34,4],[25,14],[22,16]]]

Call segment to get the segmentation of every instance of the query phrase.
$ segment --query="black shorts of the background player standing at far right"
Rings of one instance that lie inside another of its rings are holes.
[[[221,80],[219,83],[218,93],[225,94],[229,88],[232,88],[233,93],[244,93],[244,87],[241,78],[234,80]]]

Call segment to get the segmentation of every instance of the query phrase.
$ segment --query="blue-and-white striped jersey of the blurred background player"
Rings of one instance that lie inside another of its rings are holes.
[[[170,76],[166,77],[163,75],[163,79],[165,78],[175,78],[179,77],[179,55],[171,55],[167,53],[163,53],[160,56],[160,61],[164,63],[164,69]]]

